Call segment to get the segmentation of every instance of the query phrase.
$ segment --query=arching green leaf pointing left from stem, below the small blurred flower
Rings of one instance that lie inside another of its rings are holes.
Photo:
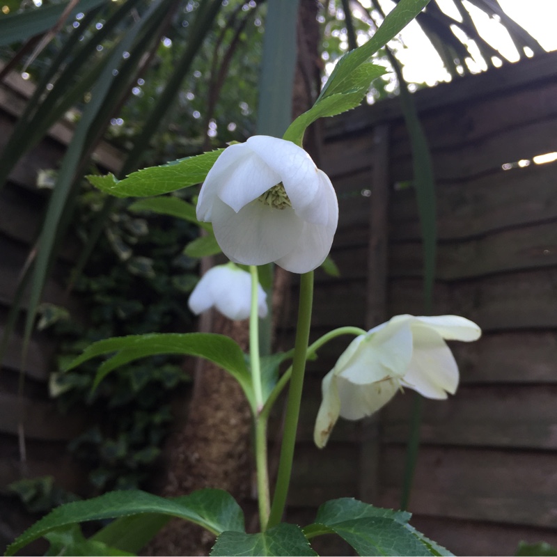
[[[244,352],[232,338],[212,333],[152,333],[106,338],[89,345],[74,361],[64,368],[71,370],[95,356],[116,352],[104,361],[93,382],[95,388],[112,370],[146,356],[184,354],[205,358],[221,366],[240,383],[246,398],[254,407],[251,377],[244,360]]]

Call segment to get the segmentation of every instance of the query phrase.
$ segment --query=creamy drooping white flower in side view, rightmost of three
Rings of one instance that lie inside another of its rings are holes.
[[[340,355],[322,382],[323,400],[313,439],[322,448],[338,416],[370,416],[409,387],[426,398],[447,398],[458,386],[458,368],[446,340],[480,338],[476,323],[458,315],[395,315],[361,335]]]

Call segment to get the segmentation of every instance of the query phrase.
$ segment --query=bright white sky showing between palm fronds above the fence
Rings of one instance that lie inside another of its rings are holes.
[[[391,0],[380,1],[384,10],[391,10],[395,6]],[[453,0],[438,0],[437,3],[447,15],[460,19]],[[517,61],[519,59],[517,49],[505,28],[471,3],[465,2],[465,4],[478,26],[480,35],[499,50],[501,56],[508,61]],[[499,0],[499,4],[505,13],[521,24],[544,49],[557,49],[557,0]],[[407,81],[434,85],[439,81],[450,79],[437,52],[416,22],[412,22],[402,31],[402,41],[407,48],[399,49],[397,56],[405,65],[404,73]],[[473,52],[473,45],[471,49]],[[469,63],[469,68],[471,71],[487,69],[485,64],[477,63]]]

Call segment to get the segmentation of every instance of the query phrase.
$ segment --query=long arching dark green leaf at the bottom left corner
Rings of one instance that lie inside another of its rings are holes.
[[[164,499],[137,490],[109,492],[94,499],[75,501],[55,508],[22,533],[6,549],[6,555],[15,554],[16,551],[54,528],[90,520],[128,517],[144,513],[189,520],[215,535],[223,531],[244,531],[244,515],[240,505],[236,503],[233,496],[221,489],[201,489],[176,499]],[[130,524],[127,523],[127,526]],[[116,530],[111,531],[111,537],[118,537]],[[99,534],[95,535],[93,540],[105,544],[109,538],[108,535]]]

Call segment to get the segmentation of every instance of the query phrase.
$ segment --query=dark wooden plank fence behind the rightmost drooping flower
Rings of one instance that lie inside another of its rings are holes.
[[[510,555],[520,540],[556,544],[557,162],[535,157],[557,151],[557,53],[414,99],[437,182],[433,314],[469,317],[483,337],[452,343],[460,389],[423,405],[413,524],[456,554]],[[332,256],[342,276],[317,276],[314,335],[423,314],[421,233],[398,101],[332,119],[320,166],[338,192]],[[308,370],[292,519],[311,517],[331,495],[400,505],[411,392],[375,420],[339,422],[321,453],[311,444],[320,379],[349,340]]]

